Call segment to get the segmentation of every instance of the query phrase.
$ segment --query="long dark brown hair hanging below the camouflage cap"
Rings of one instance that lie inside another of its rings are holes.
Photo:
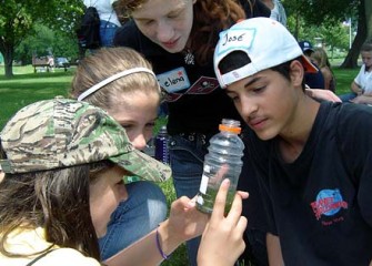
[[[74,248],[100,260],[90,215],[89,185],[97,180],[99,171],[111,166],[102,161],[59,170],[6,174],[0,182],[0,253],[8,257],[26,256],[8,250],[7,238],[18,229],[42,227],[46,241],[52,243],[47,249],[53,245]]]

